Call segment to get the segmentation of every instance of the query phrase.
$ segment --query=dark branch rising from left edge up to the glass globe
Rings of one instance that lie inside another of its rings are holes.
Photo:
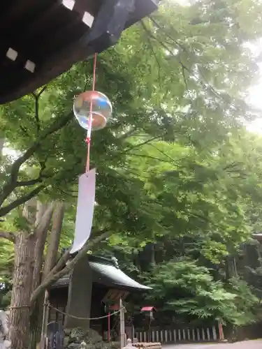
[[[20,156],[20,158],[17,158],[17,160],[15,160],[10,171],[10,180],[5,186],[3,186],[1,190],[0,207],[1,205],[3,205],[4,200],[8,198],[8,195],[10,195],[10,193],[12,193],[13,190],[17,187],[17,178],[21,165],[34,155],[34,153],[41,147],[41,142],[43,142],[43,140],[48,138],[49,135],[52,135],[53,133],[59,131],[60,128],[66,126],[68,121],[70,121],[72,118],[73,112],[69,112],[64,117],[57,117],[53,124],[46,130],[44,130],[41,135],[39,135],[38,139],[31,145],[31,147],[29,147],[29,149],[27,149],[27,151],[25,151],[25,153]]]

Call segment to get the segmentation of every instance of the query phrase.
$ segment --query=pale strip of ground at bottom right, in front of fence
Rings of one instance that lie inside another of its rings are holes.
[[[257,341],[243,341],[237,343],[216,343],[216,344],[180,344],[164,345],[163,349],[262,349],[262,339]]]

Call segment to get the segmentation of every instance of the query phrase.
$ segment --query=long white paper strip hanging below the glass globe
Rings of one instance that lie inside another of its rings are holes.
[[[70,253],[79,251],[87,242],[92,230],[96,194],[96,169],[82,174],[78,181],[78,207],[75,218],[75,238]]]

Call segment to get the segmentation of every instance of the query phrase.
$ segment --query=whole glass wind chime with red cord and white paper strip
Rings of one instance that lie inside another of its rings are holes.
[[[75,218],[75,238],[71,253],[79,251],[89,239],[94,214],[96,169],[90,170],[90,145],[92,131],[104,128],[112,114],[112,104],[107,96],[95,91],[96,61],[94,55],[92,91],[85,91],[75,98],[73,112],[82,128],[87,130],[87,165],[85,174],[79,177],[78,206]]]

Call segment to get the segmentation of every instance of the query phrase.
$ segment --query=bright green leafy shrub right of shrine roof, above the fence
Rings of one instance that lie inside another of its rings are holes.
[[[151,304],[161,311],[174,311],[187,321],[223,320],[245,325],[256,319],[258,299],[244,281],[232,279],[225,287],[214,281],[208,268],[193,260],[162,263],[153,269],[148,284],[154,288],[154,296],[147,296]]]

